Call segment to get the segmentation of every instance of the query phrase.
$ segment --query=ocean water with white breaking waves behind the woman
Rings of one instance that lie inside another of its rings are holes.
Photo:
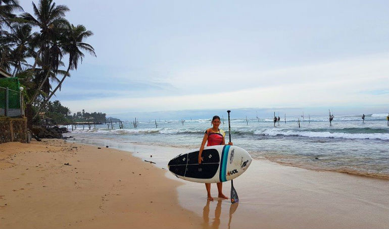
[[[387,113],[328,117],[282,117],[275,127],[271,118],[231,119],[231,141],[246,149],[253,159],[267,159],[288,166],[329,170],[366,177],[389,179],[389,127]],[[300,119],[300,128],[298,120]],[[158,145],[186,149],[199,148],[211,119],[140,121],[108,127],[77,126],[70,135],[83,139],[107,139],[121,144]],[[219,127],[226,132],[228,121]],[[69,126],[71,131],[71,127]],[[69,136],[69,134],[67,135]],[[166,158],[167,161],[170,158]]]

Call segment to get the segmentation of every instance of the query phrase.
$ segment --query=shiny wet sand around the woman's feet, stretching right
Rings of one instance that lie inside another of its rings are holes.
[[[203,228],[388,228],[388,183],[254,160],[234,180],[238,206],[207,201],[203,184],[185,182],[178,191],[180,204],[203,217]],[[230,184],[223,183],[228,196]],[[187,198],[199,193],[200,201]],[[214,184],[211,193],[217,196]]]

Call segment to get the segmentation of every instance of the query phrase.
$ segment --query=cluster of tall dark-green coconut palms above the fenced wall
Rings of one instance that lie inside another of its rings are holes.
[[[85,43],[93,33],[66,19],[67,6],[53,0],[36,2],[32,2],[30,14],[18,0],[0,0],[0,68],[19,78],[25,102],[33,106],[35,117],[39,111],[65,117],[70,114],[51,111],[55,102],[50,98],[82,63],[84,52],[96,56],[94,48]]]

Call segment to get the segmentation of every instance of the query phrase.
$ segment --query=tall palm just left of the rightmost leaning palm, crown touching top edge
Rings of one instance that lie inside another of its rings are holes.
[[[62,58],[62,53],[58,50],[58,37],[59,33],[63,29],[63,25],[67,24],[67,20],[64,18],[65,13],[69,11],[69,8],[64,5],[56,6],[53,0],[40,0],[38,7],[32,3],[34,16],[29,13],[21,14],[21,18],[31,26],[39,27],[40,32],[38,34],[39,44],[38,52],[35,58],[35,63],[32,66],[32,73],[35,73],[35,68],[38,61],[41,62],[42,69],[46,71],[46,77],[43,79],[35,94],[28,102],[31,104],[38,96],[39,91],[46,82],[48,75],[52,68],[58,69],[58,60]],[[40,60],[39,60],[40,59]]]

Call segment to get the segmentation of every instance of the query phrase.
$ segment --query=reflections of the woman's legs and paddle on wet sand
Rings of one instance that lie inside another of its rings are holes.
[[[215,228],[218,229],[220,226],[220,215],[221,215],[221,204],[223,200],[219,199],[217,201],[216,209],[215,209],[215,218],[213,218],[212,223],[209,223],[209,200],[207,200],[207,204],[203,208],[203,228]],[[236,211],[238,207],[238,203],[231,204],[230,211],[229,211],[229,220],[228,220],[228,228],[230,228],[230,223],[232,219],[232,214]]]

